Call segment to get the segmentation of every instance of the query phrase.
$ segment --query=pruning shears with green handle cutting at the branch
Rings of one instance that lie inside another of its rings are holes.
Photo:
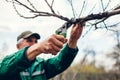
[[[56,34],[63,35],[66,38],[67,29],[72,25],[71,22],[65,22],[60,28],[56,30]]]

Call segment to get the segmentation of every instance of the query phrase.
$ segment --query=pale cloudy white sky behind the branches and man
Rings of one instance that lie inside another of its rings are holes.
[[[80,7],[80,5],[83,4],[83,1],[84,0],[74,0],[76,14],[80,12],[80,9],[82,7]],[[84,13],[82,13],[81,15],[87,15],[88,12],[90,12],[91,8],[96,4],[97,7],[95,7],[93,12],[100,11],[101,8],[98,8],[98,6],[100,6],[100,3],[98,1],[100,0],[86,1],[87,3],[85,4],[86,7],[84,9]],[[106,5],[109,0],[103,1]],[[108,10],[111,9],[112,6],[114,7],[115,5],[117,5],[118,3],[120,3],[119,0],[114,0],[114,2],[113,0],[111,0],[111,4]],[[40,10],[49,11],[48,7],[46,7],[47,5],[44,5],[45,3],[42,2],[42,0],[40,5],[37,1],[35,2],[35,4],[36,7]],[[29,13],[26,13],[23,8],[19,8],[19,10],[22,14],[29,15]],[[70,4],[67,0],[55,0],[54,10],[58,14],[67,16],[69,18],[73,17]],[[108,23],[114,23],[116,21],[114,19],[116,18],[110,19]],[[17,15],[11,3],[8,3],[5,0],[0,0],[0,55],[6,56],[17,51],[16,38],[21,32],[25,30],[37,32],[41,35],[40,41],[42,41],[50,35],[54,34],[55,30],[58,29],[63,23],[63,20],[54,17],[38,17],[35,19],[24,19]],[[75,62],[80,61],[85,55],[83,49],[89,48],[94,49],[97,52],[96,59],[99,62],[104,62],[105,64],[109,63],[106,66],[113,64],[111,60],[106,59],[104,53],[111,51],[113,46],[116,44],[114,33],[106,29],[91,30],[87,33],[88,29],[89,28],[86,27],[84,28],[83,34],[78,41],[79,53],[75,59]],[[69,38],[70,30],[71,28],[68,30],[67,38]],[[92,60],[92,57],[88,56],[88,59]]]

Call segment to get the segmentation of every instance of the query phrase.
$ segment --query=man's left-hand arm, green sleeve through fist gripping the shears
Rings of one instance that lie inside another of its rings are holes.
[[[65,42],[66,39],[63,36],[52,35],[40,43],[5,57],[0,63],[0,77],[11,76],[30,67],[34,59],[41,53],[56,55]]]

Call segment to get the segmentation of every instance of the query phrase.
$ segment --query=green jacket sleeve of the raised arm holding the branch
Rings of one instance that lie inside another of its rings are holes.
[[[75,56],[77,55],[77,52],[77,47],[73,49],[69,48],[68,44],[65,44],[64,48],[59,52],[57,56],[47,59],[44,62],[47,79],[50,79],[66,70],[73,62]]]

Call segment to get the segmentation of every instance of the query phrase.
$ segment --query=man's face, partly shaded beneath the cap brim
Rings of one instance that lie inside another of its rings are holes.
[[[18,49],[22,49],[26,46],[32,46],[37,43],[37,39],[34,36],[23,39],[23,41],[18,45]]]

